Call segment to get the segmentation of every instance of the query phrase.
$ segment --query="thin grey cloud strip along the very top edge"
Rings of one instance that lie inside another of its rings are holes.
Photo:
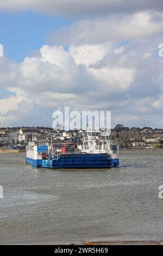
[[[57,16],[90,17],[112,13],[129,13],[145,9],[163,10],[162,0],[1,0],[0,10],[41,11]]]

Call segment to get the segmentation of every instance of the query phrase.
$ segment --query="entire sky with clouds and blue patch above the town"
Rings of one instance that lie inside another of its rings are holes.
[[[162,32],[162,0],[1,0],[0,126],[69,106],[163,128]]]

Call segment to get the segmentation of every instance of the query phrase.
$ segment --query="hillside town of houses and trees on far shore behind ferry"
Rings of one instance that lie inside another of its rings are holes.
[[[105,128],[103,128],[104,130]],[[85,131],[73,129],[65,131],[64,127],[1,127],[0,148],[26,149],[29,141],[51,141],[54,144],[82,142]],[[118,124],[111,129],[111,142],[120,148],[163,148],[163,129],[151,127],[125,127]]]

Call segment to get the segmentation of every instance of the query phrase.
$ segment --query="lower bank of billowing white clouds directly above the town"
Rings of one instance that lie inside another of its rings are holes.
[[[139,125],[137,117],[150,121],[153,114],[154,124],[154,116],[162,113],[161,58],[142,59],[151,52],[146,41],[127,45],[123,54],[114,54],[113,48],[83,44],[65,51],[45,45],[22,63],[2,58],[0,84],[15,95],[0,100],[0,125],[52,125],[53,111],[64,106],[111,110],[113,124]]]

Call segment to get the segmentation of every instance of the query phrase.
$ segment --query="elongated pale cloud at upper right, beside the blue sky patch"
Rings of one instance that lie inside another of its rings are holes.
[[[54,44],[104,44],[117,40],[146,39],[161,33],[163,14],[134,13],[113,15],[111,17],[80,20],[71,26],[52,32],[48,40]]]

